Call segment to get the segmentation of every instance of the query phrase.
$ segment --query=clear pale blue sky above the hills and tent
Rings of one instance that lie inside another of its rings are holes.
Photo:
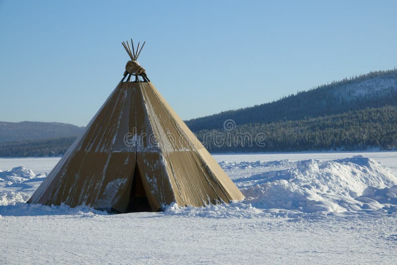
[[[397,65],[397,1],[0,0],[0,121],[85,126],[121,79],[121,41],[182,117]]]

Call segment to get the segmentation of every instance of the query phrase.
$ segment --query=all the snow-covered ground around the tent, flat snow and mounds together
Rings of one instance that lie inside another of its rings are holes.
[[[246,200],[117,215],[25,204],[59,158],[0,159],[0,261],[395,263],[397,152],[214,157]]]

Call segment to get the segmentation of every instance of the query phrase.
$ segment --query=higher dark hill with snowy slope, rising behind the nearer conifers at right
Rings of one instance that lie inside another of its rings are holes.
[[[265,99],[264,99],[265,101]],[[277,101],[230,110],[186,122],[193,132],[221,129],[225,120],[237,125],[302,120],[367,107],[397,105],[397,70],[375,71],[333,81]]]

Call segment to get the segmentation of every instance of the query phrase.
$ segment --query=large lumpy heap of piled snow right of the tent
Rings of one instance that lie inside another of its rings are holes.
[[[388,187],[397,184],[397,176],[370,158],[355,156],[326,162],[297,161],[295,168],[267,171],[236,179],[235,183],[246,201],[257,208],[345,212],[381,209],[386,201],[393,204],[395,200],[390,197],[395,195],[395,188],[389,191]],[[373,199],[386,194],[388,199]]]

